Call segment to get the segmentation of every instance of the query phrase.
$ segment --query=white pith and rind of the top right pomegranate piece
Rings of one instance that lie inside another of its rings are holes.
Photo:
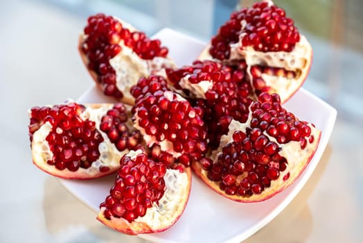
[[[274,5],[272,1],[265,1],[269,3],[269,6]],[[247,22],[242,20],[241,30],[245,28]],[[254,90],[253,78],[251,74],[252,66],[262,66],[262,67],[274,67],[282,68],[285,71],[292,71],[295,74],[294,78],[287,78],[283,76],[274,76],[269,74],[262,74],[261,78],[266,83],[266,86],[272,88],[269,91],[270,94],[278,93],[281,98],[281,103],[284,103],[289,99],[296,90],[302,85],[308,72],[310,70],[311,59],[312,59],[312,47],[306,37],[300,34],[299,42],[296,42],[295,47],[292,51],[255,51],[253,47],[243,47],[242,39],[247,35],[246,33],[241,33],[238,37],[238,42],[229,44],[231,48],[231,54],[229,59],[222,60],[222,62],[227,65],[233,65],[238,60],[245,60],[247,65],[247,78],[251,83],[251,87]],[[207,45],[206,49],[202,51],[199,60],[213,60],[221,62],[221,60],[214,59],[209,54],[210,44]]]

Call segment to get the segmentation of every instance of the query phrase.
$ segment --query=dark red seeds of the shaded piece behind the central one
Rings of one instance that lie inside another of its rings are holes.
[[[168,78],[175,87],[181,89],[179,82],[188,76],[191,83],[211,81],[213,86],[205,93],[206,99],[195,99],[195,108],[204,111],[203,119],[209,133],[212,147],[219,144],[220,136],[227,133],[231,118],[244,122],[248,117],[251,103],[251,87],[245,80],[245,62],[238,67],[229,67],[210,60],[195,61],[174,71],[168,70]],[[186,90],[183,90],[187,92]]]

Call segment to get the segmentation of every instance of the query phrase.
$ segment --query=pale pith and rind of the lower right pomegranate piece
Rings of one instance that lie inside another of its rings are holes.
[[[218,162],[218,156],[222,153],[222,147],[230,142],[233,142],[233,133],[235,131],[242,131],[243,133],[246,133],[246,128],[250,126],[251,119],[252,112],[249,110],[249,117],[245,123],[240,123],[234,119],[231,121],[229,124],[229,132],[227,135],[222,135],[220,139],[220,146],[218,146],[218,149],[211,153],[210,158],[213,160],[213,163]],[[208,182],[209,186],[215,190],[215,192],[218,192],[219,194],[222,194],[222,196],[226,196],[227,198],[234,201],[255,202],[269,199],[274,194],[281,192],[286,187],[291,185],[291,183],[293,183],[303,172],[314,155],[315,150],[317,149],[317,144],[319,143],[321,132],[312,126],[312,124],[307,125],[311,129],[310,135],[314,136],[314,140],[312,143],[307,141],[306,147],[304,149],[301,149],[301,145],[298,141],[290,141],[286,144],[279,144],[274,137],[267,134],[266,131],[263,131],[263,135],[268,137],[271,142],[278,144],[278,146],[281,148],[281,151],[279,151],[278,154],[287,160],[287,167],[284,171],[279,171],[280,176],[278,176],[276,180],[272,180],[271,185],[269,187],[265,187],[261,194],[252,194],[251,196],[227,195],[224,193],[224,191],[220,190],[220,181],[210,181],[207,177],[208,171],[202,169],[202,167],[199,166],[198,169],[200,170],[200,174],[202,174],[202,180],[204,182]],[[284,180],[284,176],[286,176],[288,173],[290,173],[290,175],[286,180]],[[237,176],[236,181],[242,181],[242,178],[245,178],[246,176],[247,172],[244,172],[242,175]]]

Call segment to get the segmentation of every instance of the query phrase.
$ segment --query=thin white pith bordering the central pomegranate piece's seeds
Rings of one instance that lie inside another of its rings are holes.
[[[172,91],[165,91],[164,93],[164,96],[166,97],[166,99],[168,99],[169,101],[172,101],[174,100],[174,94],[176,95],[176,99],[177,101],[186,101],[186,99],[184,99],[182,96],[180,96],[179,94],[175,93],[175,92],[172,92]],[[135,119],[135,122],[134,122],[134,127],[140,131],[140,133],[143,135],[143,140],[145,140],[146,144],[148,145],[149,148],[151,148],[151,146],[153,144],[158,144],[160,146],[160,149],[161,151],[164,151],[164,152],[168,152],[170,153],[174,158],[179,158],[180,156],[182,156],[183,153],[179,153],[179,152],[176,152],[174,149],[173,149],[173,145],[172,145],[172,142],[170,142],[169,140],[165,139],[163,141],[157,141],[156,138],[154,136],[151,136],[151,135],[148,135],[146,132],[145,132],[145,129],[142,128],[141,126],[139,126],[139,116],[137,115],[137,111],[139,109],[136,109],[135,110],[135,114],[134,114],[134,119]]]

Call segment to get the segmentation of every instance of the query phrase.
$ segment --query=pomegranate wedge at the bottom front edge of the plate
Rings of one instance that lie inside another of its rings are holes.
[[[97,219],[129,235],[165,231],[175,224],[188,202],[191,169],[168,168],[141,150],[130,151],[120,164]]]

